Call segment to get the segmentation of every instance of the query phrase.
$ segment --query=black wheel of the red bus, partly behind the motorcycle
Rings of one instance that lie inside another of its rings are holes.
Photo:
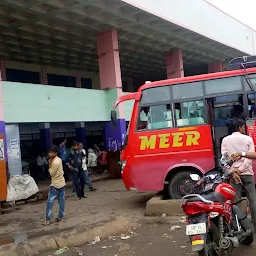
[[[171,199],[181,199],[183,196],[194,193],[195,182],[191,180],[190,174],[193,170],[181,171],[176,173],[168,185],[168,194]]]

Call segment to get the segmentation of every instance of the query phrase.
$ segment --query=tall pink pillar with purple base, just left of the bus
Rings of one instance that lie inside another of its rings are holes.
[[[116,30],[97,36],[97,52],[100,87],[102,90],[108,90],[108,105],[111,106],[116,98],[123,93],[118,35]],[[107,150],[119,150],[124,142],[126,123],[123,104],[118,106],[118,117],[116,126],[113,126],[111,121],[108,121],[105,125],[105,143]]]

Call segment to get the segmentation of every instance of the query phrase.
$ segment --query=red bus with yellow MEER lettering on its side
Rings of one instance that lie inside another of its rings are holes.
[[[135,100],[121,153],[126,189],[179,199],[193,191],[191,173],[218,171],[228,124],[242,113],[254,117],[256,68],[249,58],[235,59],[231,71],[146,82],[117,99],[114,108]],[[113,123],[115,117],[113,110]],[[247,131],[255,139],[252,120]]]

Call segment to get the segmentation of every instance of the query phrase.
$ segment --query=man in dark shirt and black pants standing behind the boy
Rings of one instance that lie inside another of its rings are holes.
[[[68,158],[67,166],[72,172],[73,185],[76,190],[78,199],[86,198],[84,195],[84,184],[85,184],[85,174],[82,168],[82,162],[85,155],[80,151],[79,143],[77,141],[73,142],[72,150]]]

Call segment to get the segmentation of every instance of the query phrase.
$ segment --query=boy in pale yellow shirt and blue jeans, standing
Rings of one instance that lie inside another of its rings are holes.
[[[64,218],[64,209],[65,209],[65,190],[66,185],[64,179],[64,172],[61,159],[57,156],[58,148],[53,146],[48,153],[49,156],[49,173],[51,175],[51,185],[48,194],[47,208],[46,208],[46,218],[44,225],[51,224],[52,219],[52,208],[54,200],[58,198],[59,202],[59,215],[56,219],[57,222],[60,222]]]

